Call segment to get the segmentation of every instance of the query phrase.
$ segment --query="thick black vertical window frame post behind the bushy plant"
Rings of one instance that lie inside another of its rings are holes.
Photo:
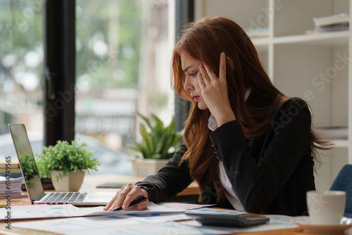
[[[44,146],[75,138],[75,6],[44,5]]]

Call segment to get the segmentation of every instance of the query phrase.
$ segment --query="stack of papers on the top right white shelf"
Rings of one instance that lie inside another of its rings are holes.
[[[350,17],[348,13],[340,13],[320,18],[313,18],[313,21],[316,32],[329,32],[348,30],[349,19]]]

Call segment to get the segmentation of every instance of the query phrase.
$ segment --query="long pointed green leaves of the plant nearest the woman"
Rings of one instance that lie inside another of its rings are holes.
[[[130,149],[136,153],[135,155],[139,157],[142,155],[143,158],[168,159],[172,157],[182,137],[181,132],[175,131],[175,118],[172,118],[168,127],[164,127],[163,122],[154,114],[151,114],[150,119],[140,113],[138,115],[144,120],[148,129],[144,123],[140,123],[142,141],[135,141],[134,145],[130,145]]]

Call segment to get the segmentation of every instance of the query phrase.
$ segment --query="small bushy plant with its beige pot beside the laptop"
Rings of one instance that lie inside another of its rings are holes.
[[[43,153],[37,155],[40,176],[50,178],[56,191],[78,191],[84,179],[84,173],[97,170],[101,164],[94,158],[94,151],[86,149],[87,144],[78,144],[77,139],[57,141],[55,146],[43,147]]]

